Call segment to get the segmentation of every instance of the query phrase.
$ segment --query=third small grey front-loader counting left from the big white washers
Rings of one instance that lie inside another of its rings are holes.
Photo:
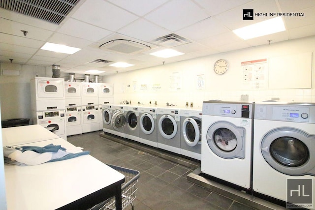
[[[157,108],[138,107],[139,112],[139,142],[158,147]]]

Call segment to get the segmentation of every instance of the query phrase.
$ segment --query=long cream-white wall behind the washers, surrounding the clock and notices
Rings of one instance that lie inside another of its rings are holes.
[[[315,36],[263,45],[243,50],[216,54],[193,60],[159,65],[156,67],[118,73],[104,76],[103,82],[114,84],[114,102],[120,103],[131,100],[131,104],[141,102],[148,104],[151,100],[158,105],[166,103],[185,106],[186,102],[193,102],[194,107],[202,107],[202,101],[210,99],[240,100],[241,94],[248,94],[249,101],[271,100],[280,98],[286,102],[315,102],[314,72],[311,73],[312,88],[307,89],[278,89],[272,90],[268,86],[263,90],[244,89],[242,61],[270,59],[285,55],[298,55],[315,51]],[[312,69],[314,69],[315,55],[313,53]],[[223,75],[217,75],[213,70],[216,60],[229,61],[229,70]],[[205,88],[197,89],[197,75],[204,75]],[[170,88],[173,76],[180,78],[180,90]],[[286,76],[279,79],[279,83],[286,84]],[[303,82],[301,82],[303,83]],[[143,86],[148,89],[144,90]],[[152,86],[160,86],[160,90],[152,90]]]

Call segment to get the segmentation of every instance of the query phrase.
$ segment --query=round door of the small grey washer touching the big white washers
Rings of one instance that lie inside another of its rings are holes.
[[[186,118],[183,121],[183,136],[186,144],[194,147],[201,144],[201,119]]]

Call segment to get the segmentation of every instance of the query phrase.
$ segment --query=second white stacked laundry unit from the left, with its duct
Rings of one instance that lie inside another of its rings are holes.
[[[82,133],[82,101],[81,83],[73,82],[74,74],[70,80],[64,82],[66,133],[68,136]]]

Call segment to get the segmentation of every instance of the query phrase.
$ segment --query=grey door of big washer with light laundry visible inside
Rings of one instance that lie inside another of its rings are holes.
[[[245,129],[227,121],[219,121],[207,131],[210,149],[224,159],[245,158]]]

